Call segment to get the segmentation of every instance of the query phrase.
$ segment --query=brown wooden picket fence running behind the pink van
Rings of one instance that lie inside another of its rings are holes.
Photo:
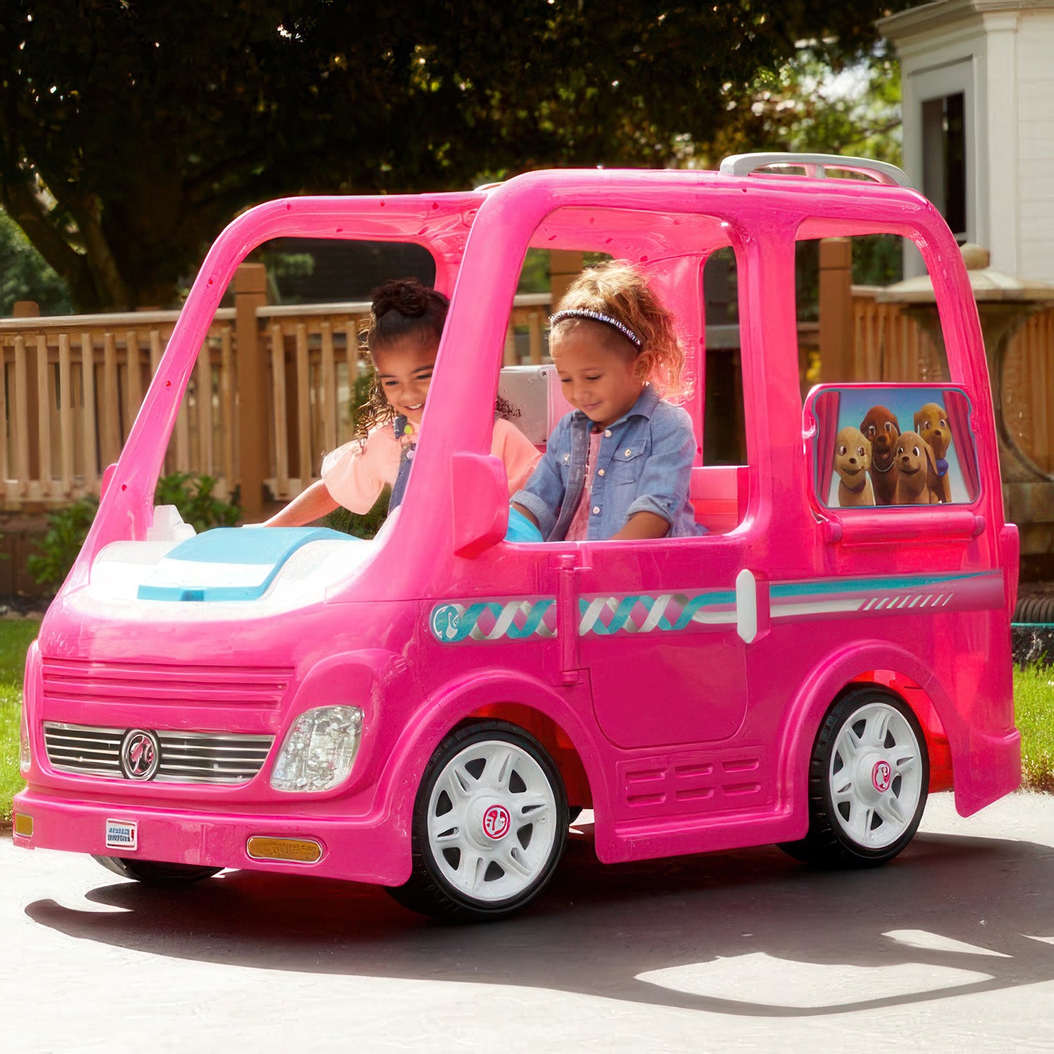
[[[944,379],[943,354],[925,330],[898,305],[876,302],[877,290],[851,288],[843,255],[837,310],[824,309],[821,287],[819,325],[799,328],[803,383]],[[164,462],[167,472],[213,476],[218,496],[240,488],[249,518],[260,513],[265,487],[274,500],[294,497],[316,479],[323,454],[351,438],[369,313],[367,302],[267,306],[262,275],[253,269],[262,272],[242,265],[235,306],[213,319]],[[825,273],[829,279],[835,269]],[[549,294],[516,297],[506,365],[543,360],[548,307]],[[98,494],[177,317],[0,319],[0,509],[45,509]],[[1007,362],[1006,419],[1019,447],[1054,471],[1054,310],[1028,319]]]

